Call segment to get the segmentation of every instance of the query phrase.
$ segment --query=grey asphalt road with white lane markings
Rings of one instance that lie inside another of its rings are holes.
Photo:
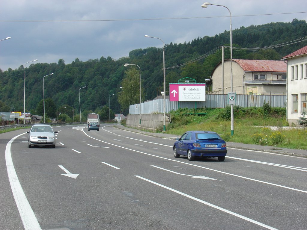
[[[54,130],[55,149],[0,134],[1,230],[307,229],[306,158],[229,148],[190,162],[174,140],[112,125]]]

